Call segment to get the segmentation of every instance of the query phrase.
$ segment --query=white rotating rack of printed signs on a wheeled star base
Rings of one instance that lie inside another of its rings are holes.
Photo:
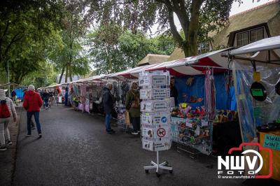
[[[170,76],[169,72],[153,71],[139,74],[141,101],[141,132],[142,148],[157,152],[157,162],[151,161],[151,166],[144,166],[146,173],[156,169],[168,170],[172,167],[167,162],[160,163],[160,151],[169,150],[172,146],[170,130]]]

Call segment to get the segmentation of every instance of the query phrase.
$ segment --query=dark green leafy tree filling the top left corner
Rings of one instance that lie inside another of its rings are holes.
[[[0,69],[13,83],[40,69],[44,46],[59,25],[59,1],[1,1]]]

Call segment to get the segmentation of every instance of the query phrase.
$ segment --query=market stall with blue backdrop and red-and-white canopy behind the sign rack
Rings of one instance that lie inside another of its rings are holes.
[[[109,78],[127,80],[139,77],[142,71],[169,71],[175,78],[172,87],[178,92],[172,103],[173,141],[181,144],[181,147],[190,146],[209,155],[212,152],[213,123],[214,126],[223,126],[222,124],[232,122],[232,126],[236,128],[235,133],[239,132],[232,73],[228,68],[228,59],[221,57],[221,53],[225,51],[228,49],[172,62],[140,66],[114,73]],[[224,141],[219,138],[222,132],[219,129],[218,134],[215,133],[218,141]],[[229,134],[233,131],[227,132]]]

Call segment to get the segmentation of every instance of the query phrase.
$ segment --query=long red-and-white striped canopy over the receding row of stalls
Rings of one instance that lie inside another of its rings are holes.
[[[208,52],[203,55],[195,57],[186,57],[183,59],[177,59],[171,62],[163,62],[159,64],[150,64],[146,66],[137,66],[133,69],[127,69],[118,73],[110,73],[108,75],[92,76],[90,78],[80,79],[71,83],[64,83],[63,85],[71,85],[74,83],[100,83],[100,80],[104,78],[138,78],[141,71],[169,71],[172,76],[194,76],[204,74],[204,71],[208,67],[218,67],[214,69],[215,72],[225,71],[228,69],[228,58],[221,57],[221,52],[225,52],[227,49],[217,50],[214,52]]]

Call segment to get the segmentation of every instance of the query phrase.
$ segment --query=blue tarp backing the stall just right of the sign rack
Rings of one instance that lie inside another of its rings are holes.
[[[205,76],[193,76],[193,85],[189,87],[186,81],[190,76],[177,77],[175,87],[178,90],[178,102],[183,103],[190,99],[190,96],[197,96],[204,99],[204,79]],[[216,109],[237,110],[235,101],[235,88],[225,90],[225,76],[223,73],[214,75],[216,86]],[[192,107],[204,106],[204,100],[200,103],[193,103]]]

